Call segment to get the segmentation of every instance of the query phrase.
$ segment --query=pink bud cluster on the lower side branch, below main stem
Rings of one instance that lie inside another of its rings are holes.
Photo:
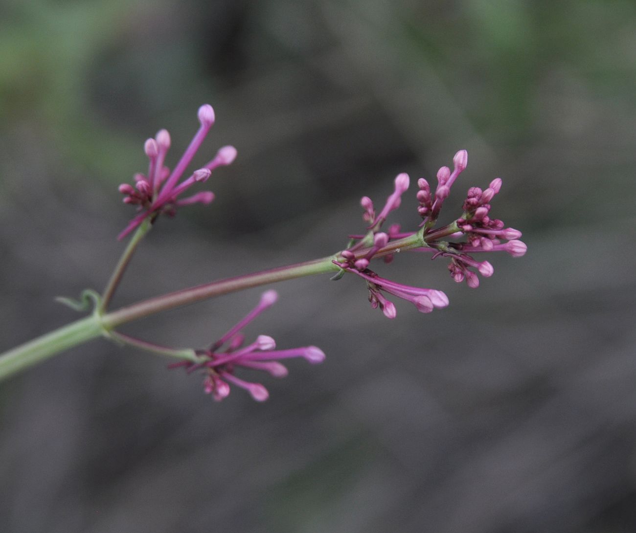
[[[267,389],[260,383],[245,381],[237,377],[237,369],[264,371],[273,377],[287,375],[287,368],[281,359],[303,357],[309,363],[322,363],[324,352],[316,346],[305,346],[287,350],[276,350],[276,343],[268,335],[259,335],[254,342],[244,345],[245,336],[240,333],[266,308],[278,299],[276,291],[266,291],[254,309],[244,319],[223,335],[207,350],[197,350],[200,362],[181,361],[170,364],[169,368],[184,367],[188,373],[200,370],[205,374],[204,389],[217,401],[230,394],[230,384],[236,385],[251,394],[256,401],[265,401],[269,397]]]

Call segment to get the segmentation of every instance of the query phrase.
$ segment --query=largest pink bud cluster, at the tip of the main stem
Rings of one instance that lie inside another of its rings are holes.
[[[401,250],[430,252],[433,259],[450,259],[448,270],[453,280],[465,280],[469,287],[475,288],[479,286],[478,273],[483,277],[490,277],[494,268],[489,261],[475,260],[469,254],[495,251],[505,251],[513,257],[525,254],[527,246],[518,240],[521,232],[507,228],[501,220],[490,216],[490,202],[501,190],[502,182],[499,178],[491,181],[484,190],[479,187],[469,188],[459,218],[438,227],[441,208],[467,163],[466,150],[458,151],[453,158],[452,171],[448,167],[438,170],[434,192],[426,179],[418,179],[415,196],[421,221],[416,231],[401,232],[399,225],[390,226],[386,232],[381,231],[389,213],[401,204],[402,196],[409,186],[408,174],[397,175],[394,191],[379,214],[376,215],[371,198],[365,196],[361,199],[363,220],[368,224],[367,231],[362,235],[350,235],[352,240],[349,246],[338,254],[333,263],[340,266],[342,272],[354,273],[365,280],[371,307],[379,307],[385,316],[396,316],[396,307],[385,294],[410,301],[423,313],[446,307],[448,298],[445,293],[436,289],[408,286],[380,277],[369,268],[374,258],[383,258],[385,263],[389,263],[394,254]],[[398,246],[399,244],[403,246]],[[338,279],[339,277],[336,276]]]

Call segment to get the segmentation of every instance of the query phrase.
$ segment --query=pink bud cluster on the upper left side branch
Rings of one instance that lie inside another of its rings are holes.
[[[212,160],[179,183],[204,141],[207,132],[214,124],[214,109],[212,109],[212,106],[204,104],[199,107],[198,120],[200,127],[197,133],[172,171],[163,164],[166,153],[170,148],[170,134],[167,130],[160,130],[154,139],[146,141],[144,151],[149,159],[148,174],[135,174],[134,187],[128,183],[123,183],[119,187],[120,192],[125,195],[123,201],[126,204],[137,205],[139,214],[130,221],[128,226],[120,233],[118,239],[123,239],[148,217],[156,216],[160,213],[174,215],[176,208],[181,205],[209,204],[214,200],[212,191],[201,191],[190,197],[179,198],[181,193],[193,184],[207,181],[212,174],[212,170],[230,165],[237,156],[236,148],[223,146]]]

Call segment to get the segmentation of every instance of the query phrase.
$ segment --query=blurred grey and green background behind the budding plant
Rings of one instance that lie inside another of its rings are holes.
[[[361,195],[460,148],[446,205],[502,177],[493,213],[529,245],[475,291],[418,254],[378,268],[445,290],[431,315],[388,321],[355,279],[277,286],[248,333],[328,358],[263,405],[105,341],[3,382],[0,529],[635,530],[635,23],[632,1],[0,0],[0,349],[102,288],[116,187],[159,128],[174,165],[204,102],[198,160],[239,157],[156,225],[116,306],[333,253]],[[205,346],[260,292],[127,331]]]

